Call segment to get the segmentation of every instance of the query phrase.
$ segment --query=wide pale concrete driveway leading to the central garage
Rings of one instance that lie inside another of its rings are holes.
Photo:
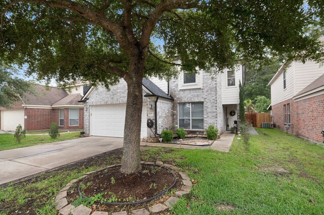
[[[85,137],[0,151],[0,184],[123,147],[123,138]]]

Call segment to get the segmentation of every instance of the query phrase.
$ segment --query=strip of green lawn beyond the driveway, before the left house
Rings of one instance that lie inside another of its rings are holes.
[[[80,132],[60,134],[56,139],[52,139],[49,135],[26,135],[26,138],[24,138],[20,144],[16,142],[16,138],[13,134],[0,134],[0,151],[62,140],[71,140],[77,138],[75,135],[78,134],[80,134]]]

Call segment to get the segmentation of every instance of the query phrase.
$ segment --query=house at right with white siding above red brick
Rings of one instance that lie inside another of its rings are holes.
[[[312,142],[322,142],[324,129],[324,66],[286,62],[271,79],[273,124]]]

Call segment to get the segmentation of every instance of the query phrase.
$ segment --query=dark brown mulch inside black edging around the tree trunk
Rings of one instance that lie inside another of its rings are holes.
[[[142,172],[132,175],[122,174],[119,169],[113,167],[90,175],[83,181],[84,186],[89,186],[81,192],[88,197],[107,192],[104,198],[116,196],[118,202],[134,202],[163,192],[175,181],[163,167],[142,165]]]

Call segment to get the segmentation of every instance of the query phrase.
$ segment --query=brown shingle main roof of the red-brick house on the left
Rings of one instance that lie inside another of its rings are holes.
[[[46,87],[43,85],[34,85],[33,93],[25,93],[21,99],[24,104],[30,105],[52,105],[53,103],[61,100],[68,93],[64,89],[57,87]]]

